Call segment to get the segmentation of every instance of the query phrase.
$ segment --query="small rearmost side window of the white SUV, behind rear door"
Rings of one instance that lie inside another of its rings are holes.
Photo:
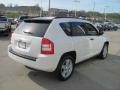
[[[69,22],[60,23],[60,26],[68,36],[71,36],[71,26]]]

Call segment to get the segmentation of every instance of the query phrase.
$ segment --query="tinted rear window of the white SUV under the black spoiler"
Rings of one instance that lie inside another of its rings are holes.
[[[17,34],[44,37],[51,21],[26,20],[15,30]]]

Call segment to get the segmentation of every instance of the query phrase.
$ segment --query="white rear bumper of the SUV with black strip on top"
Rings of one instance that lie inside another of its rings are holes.
[[[24,55],[21,56],[12,53],[9,47],[8,56],[12,58],[14,61],[19,62],[25,66],[46,72],[54,72],[59,62],[59,59],[55,58],[54,56],[45,55],[39,55],[37,58],[30,59],[30,57],[28,58],[28,56],[25,57]]]

